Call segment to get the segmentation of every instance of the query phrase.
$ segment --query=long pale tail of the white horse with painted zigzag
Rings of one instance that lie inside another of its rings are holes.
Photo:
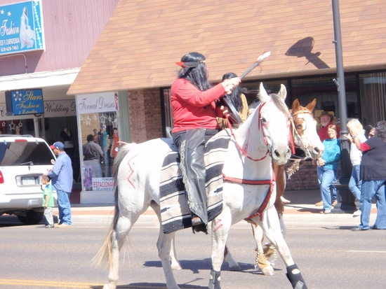
[[[114,159],[114,219],[112,221],[112,225],[109,228],[109,232],[105,237],[105,241],[103,241],[102,247],[99,249],[98,253],[94,256],[92,262],[94,265],[102,265],[103,263],[107,263],[108,265],[112,264],[112,244],[111,244],[111,236],[117,226],[118,217],[119,217],[119,207],[118,207],[118,173],[119,166],[124,160],[124,157],[135,147],[135,143],[128,143],[124,146],[119,146],[119,151],[117,156]]]

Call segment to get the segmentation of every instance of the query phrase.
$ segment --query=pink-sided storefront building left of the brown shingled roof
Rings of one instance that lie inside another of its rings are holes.
[[[65,143],[74,183],[81,184],[82,143],[74,94],[67,90],[118,0],[0,1],[0,126],[3,134]],[[44,110],[7,111],[6,92],[41,90]],[[99,131],[100,124],[95,124]],[[112,133],[110,133],[111,135]],[[43,172],[42,172],[43,173]]]

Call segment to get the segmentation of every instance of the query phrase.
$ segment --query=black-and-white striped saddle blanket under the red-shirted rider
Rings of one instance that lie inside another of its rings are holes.
[[[230,135],[224,129],[206,143],[208,220],[213,220],[222,211],[222,167],[225,163],[229,139]],[[180,170],[180,154],[174,144],[170,146],[161,168],[159,195],[164,233],[192,227],[191,212]]]

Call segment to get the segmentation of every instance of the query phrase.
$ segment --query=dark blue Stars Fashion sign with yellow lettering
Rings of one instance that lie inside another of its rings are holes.
[[[6,92],[8,115],[44,113],[41,90],[11,90]]]

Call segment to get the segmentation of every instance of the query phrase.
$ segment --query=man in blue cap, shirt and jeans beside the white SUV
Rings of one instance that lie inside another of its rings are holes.
[[[72,191],[71,159],[65,153],[65,145],[56,141],[50,148],[57,156],[53,168],[46,174],[51,178],[52,186],[58,194],[59,224],[58,227],[69,227],[71,222],[71,204],[69,195]]]

